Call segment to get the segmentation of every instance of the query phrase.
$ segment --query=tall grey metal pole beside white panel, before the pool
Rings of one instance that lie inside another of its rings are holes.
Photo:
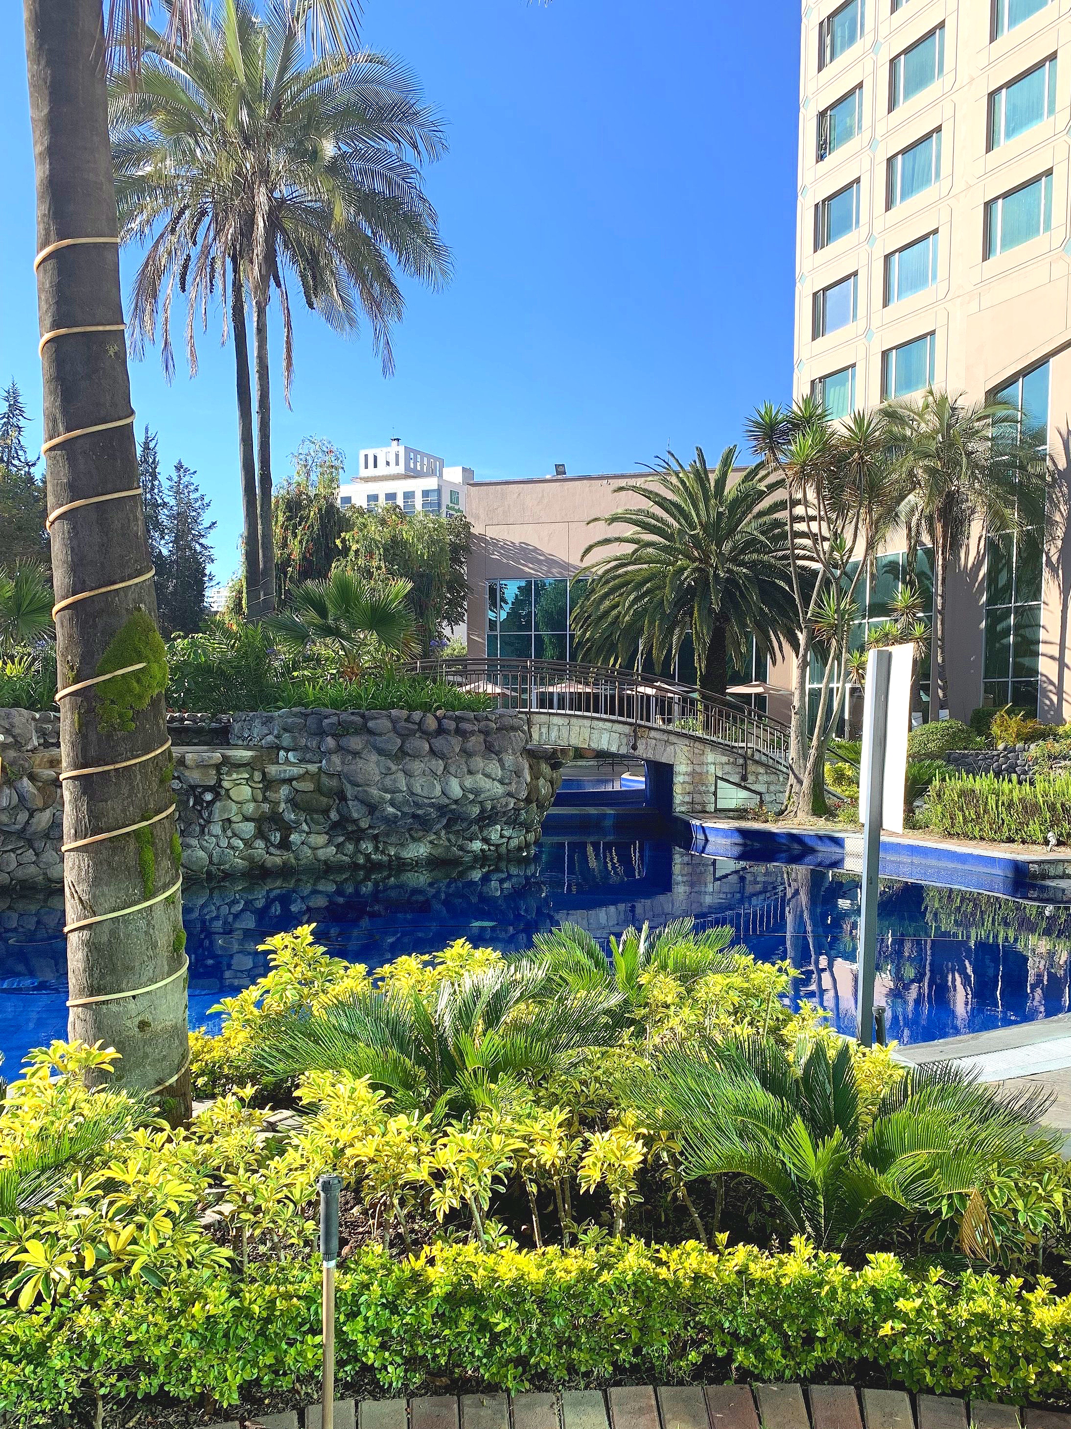
[[[874,1045],[874,976],[878,942],[878,863],[881,860],[881,815],[885,783],[885,732],[892,652],[871,650],[867,664],[867,696],[863,714],[863,753],[867,762],[865,789],[860,782],[863,819],[863,889],[860,895],[860,952],[855,992],[855,1035],[864,1047]]]

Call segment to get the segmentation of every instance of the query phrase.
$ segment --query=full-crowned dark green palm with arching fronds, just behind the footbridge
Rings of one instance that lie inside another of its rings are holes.
[[[760,466],[735,476],[735,457],[725,447],[711,472],[701,447],[688,466],[670,453],[653,480],[615,487],[644,506],[593,517],[621,530],[583,554],[614,547],[581,570],[593,580],[577,634],[591,659],[661,663],[691,636],[700,687],[724,694],[753,636],[763,654],[795,644],[783,483]]]

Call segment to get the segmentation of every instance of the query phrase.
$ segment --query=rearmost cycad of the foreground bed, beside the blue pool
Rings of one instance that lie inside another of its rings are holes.
[[[637,932],[627,927],[621,937],[610,939],[610,957],[584,927],[561,923],[551,933],[537,933],[531,956],[550,973],[551,989],[567,987],[574,993],[621,993],[631,1007],[644,1000],[640,982],[648,969],[671,973],[690,985],[707,973],[725,973],[738,966],[728,952],[731,927],[711,927],[695,933],[691,917],[677,917],[651,932],[647,923]]]

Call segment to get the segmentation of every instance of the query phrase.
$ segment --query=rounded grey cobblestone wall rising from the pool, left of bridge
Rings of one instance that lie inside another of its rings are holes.
[[[61,883],[59,750],[0,717],[0,887]],[[21,716],[19,719],[17,716]],[[560,773],[523,714],[236,714],[231,745],[174,753],[183,867],[200,877],[326,865],[486,865],[540,836]]]

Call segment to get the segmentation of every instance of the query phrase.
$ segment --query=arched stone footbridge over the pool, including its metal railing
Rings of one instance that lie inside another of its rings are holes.
[[[533,745],[643,760],[665,812],[784,803],[788,729],[733,700],[554,660],[421,660],[416,669],[526,713]]]

